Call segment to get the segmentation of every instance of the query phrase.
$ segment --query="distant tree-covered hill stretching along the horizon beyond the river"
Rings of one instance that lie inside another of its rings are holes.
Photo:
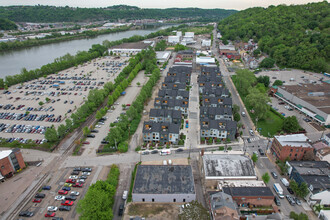
[[[117,19],[164,19],[164,18],[202,18],[218,20],[235,10],[168,8],[141,9],[138,7],[116,5],[107,8],[72,8],[55,6],[6,6],[0,7],[0,18],[15,22],[82,22]]]

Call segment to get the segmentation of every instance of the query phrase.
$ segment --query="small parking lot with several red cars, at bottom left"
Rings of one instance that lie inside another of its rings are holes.
[[[41,195],[40,197],[43,197],[42,194],[44,194],[44,198],[33,198],[27,203],[22,211],[33,212],[33,216],[29,217],[28,219],[43,219],[46,213],[49,215],[54,215],[52,217],[61,217],[63,219],[78,219],[78,215],[76,213],[78,200],[83,198],[84,194],[88,190],[88,186],[94,179],[94,175],[98,175],[98,173],[95,172],[93,168],[91,169],[91,172],[76,171],[76,173],[73,173],[74,168],[64,168],[56,171],[52,175],[50,181],[47,183],[47,186],[50,186],[50,190],[43,189],[39,190],[38,192]],[[97,178],[97,176],[95,178]],[[76,182],[79,182],[79,180],[83,182],[76,185]],[[69,184],[71,184],[71,186]],[[78,185],[79,187],[77,187]],[[53,211],[49,212],[48,207],[50,206],[54,206],[56,208],[53,208]],[[68,208],[70,210],[62,211],[64,209],[63,206],[70,207]],[[22,216],[19,217],[22,218]]]

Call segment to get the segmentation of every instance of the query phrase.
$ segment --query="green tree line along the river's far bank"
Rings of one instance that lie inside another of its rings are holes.
[[[74,39],[81,39],[81,38],[92,38],[102,34],[109,34],[109,33],[116,33],[121,31],[127,31],[130,29],[130,26],[122,26],[115,29],[104,29],[99,31],[84,31],[82,33],[76,34],[65,34],[61,35],[60,33],[52,33],[49,36],[41,39],[29,39],[24,41],[9,41],[9,42],[0,42],[0,52],[3,51],[10,51],[10,50],[17,50],[22,48],[28,48],[33,46],[51,44],[51,43],[58,43],[62,41],[69,41]]]

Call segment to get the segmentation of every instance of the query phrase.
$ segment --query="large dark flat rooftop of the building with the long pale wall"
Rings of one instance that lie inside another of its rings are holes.
[[[194,194],[191,166],[139,165],[133,193],[142,194]]]

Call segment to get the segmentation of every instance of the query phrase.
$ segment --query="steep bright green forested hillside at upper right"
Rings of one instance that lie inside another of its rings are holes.
[[[280,66],[330,71],[329,3],[250,8],[219,22],[225,40],[253,38]]]

